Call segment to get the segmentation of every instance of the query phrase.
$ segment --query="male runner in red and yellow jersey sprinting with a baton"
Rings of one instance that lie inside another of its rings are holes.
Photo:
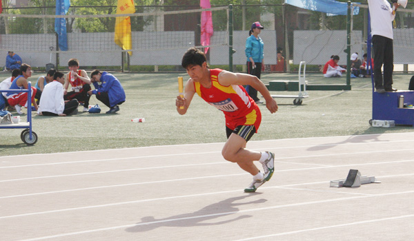
[[[187,70],[190,79],[186,83],[184,98],[177,96],[175,101],[177,112],[186,114],[194,94],[197,93],[204,101],[224,113],[228,140],[221,154],[224,159],[237,163],[244,171],[253,175],[253,182],[244,191],[255,192],[272,177],[275,154],[246,149],[246,143],[259,129],[262,114],[242,85],[251,85],[258,90],[264,96],[270,113],[277,112],[276,101],[256,76],[220,69],[210,70],[206,55],[196,48],[187,50],[181,65]],[[264,173],[253,164],[254,160],[262,163]]]

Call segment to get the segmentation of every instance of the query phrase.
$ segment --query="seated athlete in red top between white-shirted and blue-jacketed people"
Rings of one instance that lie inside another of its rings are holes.
[[[85,70],[79,70],[79,61],[70,59],[68,61],[69,74],[66,74],[65,84],[63,85],[63,98],[65,101],[77,99],[79,103],[83,103],[83,112],[88,112],[90,95],[90,78]],[[72,86],[72,91],[68,92],[68,87]]]

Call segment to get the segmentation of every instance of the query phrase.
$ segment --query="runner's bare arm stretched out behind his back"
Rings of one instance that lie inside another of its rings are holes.
[[[233,73],[223,70],[219,74],[219,83],[224,86],[228,85],[250,85],[255,88],[263,98],[266,100],[266,107],[269,109],[270,113],[277,112],[277,103],[275,99],[270,96],[270,92],[264,85],[262,81],[259,80],[256,76],[250,74],[242,73]]]

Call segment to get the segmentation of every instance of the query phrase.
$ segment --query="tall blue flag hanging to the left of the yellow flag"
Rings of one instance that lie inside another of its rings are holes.
[[[56,0],[56,15],[66,15],[70,7],[70,0]],[[66,19],[55,19],[55,32],[57,32],[59,49],[68,50],[68,36],[66,34]]]

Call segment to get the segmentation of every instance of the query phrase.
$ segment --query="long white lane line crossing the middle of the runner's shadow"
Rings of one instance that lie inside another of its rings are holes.
[[[224,213],[211,213],[211,214],[208,214],[208,215],[190,216],[190,217],[186,217],[186,218],[170,218],[170,219],[158,220],[158,221],[152,221],[152,222],[141,222],[141,223],[138,223],[138,224],[136,224],[136,223],[135,224],[126,224],[126,225],[120,225],[120,226],[115,226],[115,227],[106,227],[106,228],[101,228],[101,229],[90,229],[90,230],[78,231],[78,232],[72,232],[72,233],[61,233],[61,234],[58,234],[58,235],[49,235],[49,236],[44,236],[44,237],[39,237],[39,238],[30,238],[30,239],[22,240],[22,241],[46,240],[46,239],[50,239],[50,238],[61,238],[61,237],[70,236],[70,235],[79,235],[79,234],[83,234],[83,233],[92,233],[92,232],[106,231],[106,230],[111,230],[111,229],[125,229],[125,228],[128,228],[128,227],[138,227],[138,226],[142,226],[142,225],[159,224],[159,223],[164,223],[164,222],[175,222],[175,221],[181,221],[181,220],[191,220],[191,219],[208,218],[208,217],[215,217],[215,216],[227,216],[227,215],[236,214],[236,213],[248,213],[248,212],[249,213],[250,212],[257,213],[259,211],[264,211],[264,210],[269,210],[269,209],[281,209],[281,208],[286,208],[286,207],[299,207],[299,206],[304,206],[304,205],[315,205],[315,204],[326,203],[326,202],[343,202],[344,200],[353,200],[353,199],[359,199],[359,198],[376,198],[376,197],[382,197],[382,196],[395,196],[395,195],[404,195],[404,194],[410,194],[410,193],[414,193],[414,191],[401,191],[401,192],[395,192],[395,193],[371,194],[370,196],[353,196],[353,197],[347,197],[347,198],[333,198],[333,199],[328,199],[328,200],[298,202],[298,203],[293,203],[293,204],[288,204],[288,205],[276,205],[276,206],[270,206],[270,207],[261,207],[261,208],[256,208],[256,209],[245,209],[245,210],[230,211],[230,212],[224,212]],[[414,214],[413,215],[400,216],[400,217],[411,218],[413,216],[414,216]]]

